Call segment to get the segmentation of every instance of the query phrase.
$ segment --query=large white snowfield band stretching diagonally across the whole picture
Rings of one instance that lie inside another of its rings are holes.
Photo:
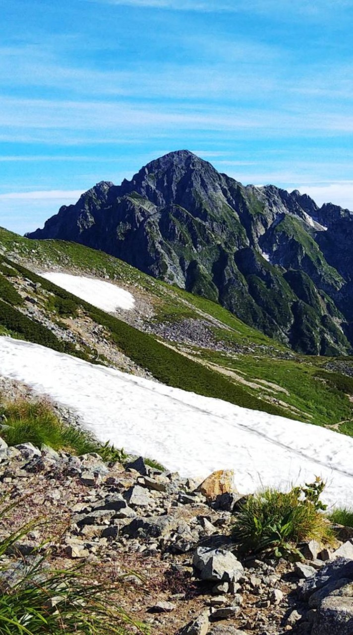
[[[0,337],[0,374],[74,409],[100,441],[183,476],[232,468],[242,493],[321,476],[329,505],[351,505],[353,439]]]

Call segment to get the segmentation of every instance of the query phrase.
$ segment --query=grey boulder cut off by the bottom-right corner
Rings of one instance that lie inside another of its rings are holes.
[[[353,599],[326,598],[319,606],[312,635],[352,635]]]

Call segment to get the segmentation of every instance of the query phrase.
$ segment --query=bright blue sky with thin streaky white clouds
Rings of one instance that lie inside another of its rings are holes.
[[[189,149],[353,210],[353,0],[3,0],[0,225]]]

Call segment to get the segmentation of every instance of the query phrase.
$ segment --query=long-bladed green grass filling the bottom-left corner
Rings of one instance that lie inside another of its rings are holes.
[[[16,504],[1,509],[2,525],[13,507]],[[107,583],[92,582],[92,573],[85,573],[83,566],[53,570],[49,551],[27,563],[18,558],[13,565],[1,565],[8,547],[34,526],[27,523],[0,541],[0,635],[124,635],[126,624],[148,632],[116,606]]]

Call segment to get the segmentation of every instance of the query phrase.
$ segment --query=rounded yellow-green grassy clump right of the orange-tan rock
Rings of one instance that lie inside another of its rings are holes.
[[[318,511],[317,503],[303,495],[302,488],[289,492],[267,489],[250,495],[236,514],[233,536],[244,551],[266,549],[277,557],[300,558],[296,549],[300,542],[319,540],[330,544],[330,523]]]

